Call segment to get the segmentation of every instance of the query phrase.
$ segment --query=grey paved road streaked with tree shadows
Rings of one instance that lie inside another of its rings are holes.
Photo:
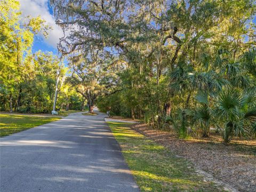
[[[105,116],[70,114],[1,138],[0,191],[139,191]]]

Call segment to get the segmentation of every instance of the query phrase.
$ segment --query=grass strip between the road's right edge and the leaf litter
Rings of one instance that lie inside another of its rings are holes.
[[[224,191],[198,176],[191,163],[129,128],[108,122],[141,191]]]

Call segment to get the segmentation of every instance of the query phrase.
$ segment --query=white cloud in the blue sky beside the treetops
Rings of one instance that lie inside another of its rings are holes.
[[[59,43],[59,38],[63,36],[62,29],[56,25],[53,15],[50,14],[49,8],[47,6],[48,0],[19,0],[20,10],[22,12],[22,17],[31,15],[32,17],[37,17],[41,15],[47,25],[52,26],[47,38],[44,38],[44,42],[51,45],[55,49],[57,48],[57,43]],[[42,36],[42,34],[41,34]]]

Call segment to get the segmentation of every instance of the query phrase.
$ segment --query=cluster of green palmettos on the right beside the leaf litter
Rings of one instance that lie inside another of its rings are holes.
[[[181,76],[187,90],[199,92],[196,105],[185,109],[188,126],[197,127],[207,137],[210,126],[215,125],[225,143],[234,136],[255,134],[255,76],[250,71],[256,63],[255,53],[250,50],[234,59],[229,51],[221,49],[212,59],[203,54],[201,67],[183,70],[183,74],[187,72]]]

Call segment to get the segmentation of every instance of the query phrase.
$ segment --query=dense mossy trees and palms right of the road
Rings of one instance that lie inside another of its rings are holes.
[[[60,39],[63,55],[88,59],[105,52],[102,67],[122,66],[114,88],[108,79],[111,90],[95,97],[102,111],[172,129],[180,138],[208,137],[211,127],[226,143],[255,137],[255,1],[51,4],[58,25],[68,31]]]

